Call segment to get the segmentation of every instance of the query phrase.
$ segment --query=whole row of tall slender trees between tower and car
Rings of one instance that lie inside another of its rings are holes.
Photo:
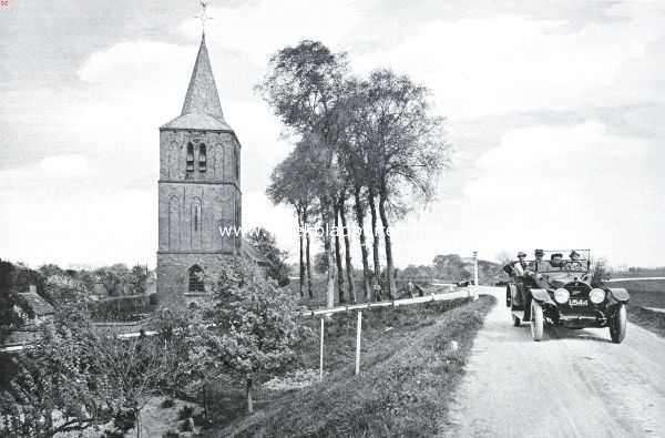
[[[296,213],[301,231],[300,295],[305,284],[313,295],[311,238],[303,231],[320,226],[327,304],[332,306],[336,281],[339,301],[347,299],[345,281],[348,299],[356,301],[349,233],[355,222],[365,298],[370,298],[372,283],[382,283],[391,297],[396,286],[390,224],[433,197],[437,177],[448,162],[443,119],[432,114],[428,89],[389,69],[354,75],[346,53],[331,52],[318,41],[301,41],[274,54],[258,89],[295,141],[294,150],[275,167],[267,194]],[[365,232],[368,213],[371,268]]]

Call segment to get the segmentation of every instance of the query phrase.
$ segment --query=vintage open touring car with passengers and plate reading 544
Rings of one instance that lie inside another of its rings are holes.
[[[627,291],[593,283],[590,249],[573,249],[571,258],[562,251],[542,253],[526,266],[504,267],[511,276],[505,299],[513,325],[531,323],[533,340],[542,339],[546,326],[608,327],[612,342],[620,344],[626,335]]]

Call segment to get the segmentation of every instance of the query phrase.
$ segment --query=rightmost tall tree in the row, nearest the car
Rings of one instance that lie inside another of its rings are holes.
[[[361,80],[358,90],[354,124],[361,130],[357,137],[367,150],[368,203],[375,236],[375,200],[378,197],[390,295],[395,281],[389,208],[397,217],[409,210],[410,204],[401,200],[406,195],[403,189],[410,189],[409,196],[424,202],[433,197],[436,177],[447,164],[448,146],[442,136],[442,118],[430,114],[427,88],[406,75],[379,69]],[[377,246],[375,244],[375,261]]]

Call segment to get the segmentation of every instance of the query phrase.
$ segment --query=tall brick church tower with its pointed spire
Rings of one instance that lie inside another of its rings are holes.
[[[224,120],[205,33],[181,115],[160,128],[157,293],[195,296],[243,249],[241,143]],[[223,235],[223,230],[229,233]]]

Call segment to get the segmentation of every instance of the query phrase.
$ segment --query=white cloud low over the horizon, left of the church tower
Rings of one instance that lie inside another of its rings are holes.
[[[55,155],[0,172],[3,258],[31,265],[149,263],[156,251],[156,184],[105,184],[116,171],[81,155]]]

